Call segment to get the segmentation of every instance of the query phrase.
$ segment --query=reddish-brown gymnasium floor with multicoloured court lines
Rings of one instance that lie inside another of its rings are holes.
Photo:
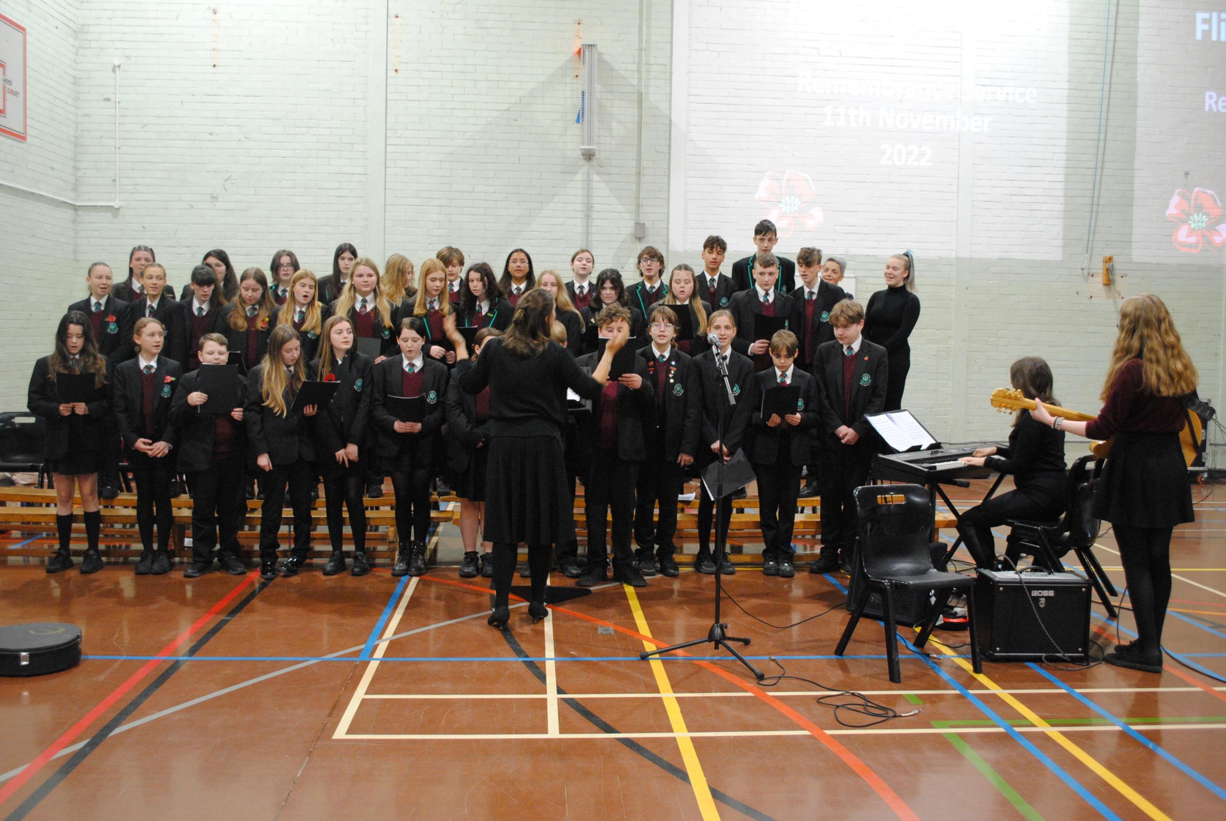
[[[1168,658],[1161,676],[991,662],[976,676],[965,649],[904,643],[893,685],[877,622],[834,658],[845,610],[777,630],[726,603],[767,674],[774,656],[910,713],[864,728],[840,724],[870,719],[836,717],[810,684],[759,687],[702,648],[639,660],[705,634],[714,578],[688,571],[607,585],[535,626],[519,605],[504,635],[485,625],[483,580],[454,567],[324,578],[316,561],[264,585],[115,565],[47,576],[13,560],[0,624],[77,624],[86,659],[0,679],[0,817],[1213,817],[1226,810],[1226,687],[1197,669],[1226,676],[1226,489],[1193,493],[1166,630],[1187,667]],[[454,528],[438,538],[454,555]],[[1113,549],[1100,540],[1122,588]],[[726,586],[787,625],[841,602],[846,581],[742,567]],[[1094,614],[1110,648],[1116,625]],[[1123,641],[1130,627],[1125,613]]]

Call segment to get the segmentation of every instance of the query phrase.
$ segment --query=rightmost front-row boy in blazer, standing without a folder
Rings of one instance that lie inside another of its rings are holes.
[[[809,572],[846,567],[856,542],[852,493],[868,482],[878,439],[864,418],[885,409],[885,348],[866,339],[864,309],[846,299],[830,311],[835,338],[818,348],[813,375],[821,384],[821,556]],[[840,560],[840,554],[842,559]]]

